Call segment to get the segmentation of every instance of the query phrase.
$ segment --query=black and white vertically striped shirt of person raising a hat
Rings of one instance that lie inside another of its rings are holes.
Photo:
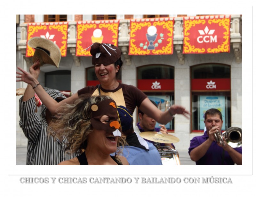
[[[53,98],[66,98],[60,91],[50,88],[44,90]],[[53,137],[47,136],[48,125],[45,120],[46,107],[42,105],[41,118],[35,112],[35,97],[28,101],[20,98],[20,127],[28,138],[26,165],[57,165],[62,161],[72,159],[79,155],[66,154],[65,138],[60,142],[54,141]]]

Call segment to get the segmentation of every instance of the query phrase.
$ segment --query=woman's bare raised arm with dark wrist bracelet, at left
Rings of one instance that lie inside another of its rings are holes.
[[[17,82],[23,81],[25,83],[30,84],[33,87],[33,90],[36,92],[36,94],[38,95],[38,97],[40,98],[40,100],[44,103],[44,105],[47,107],[47,109],[49,109],[49,111],[52,114],[56,114],[58,108],[60,106],[62,106],[64,103],[73,103],[77,98],[78,98],[78,94],[74,94],[73,96],[64,99],[62,101],[60,101],[59,103],[57,101],[55,101],[54,99],[52,99],[51,96],[49,96],[45,91],[44,88],[40,85],[40,83],[37,81],[37,79],[34,77],[35,75],[35,71],[36,71],[36,67],[37,65],[33,64],[30,68],[29,68],[29,72],[23,70],[22,68],[18,67],[18,69],[21,72],[16,72],[17,74],[17,78],[20,78],[19,80],[16,80]],[[39,69],[39,67],[37,68]]]

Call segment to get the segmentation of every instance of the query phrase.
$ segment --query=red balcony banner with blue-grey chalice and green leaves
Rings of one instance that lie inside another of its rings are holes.
[[[173,18],[130,20],[129,55],[173,53]]]

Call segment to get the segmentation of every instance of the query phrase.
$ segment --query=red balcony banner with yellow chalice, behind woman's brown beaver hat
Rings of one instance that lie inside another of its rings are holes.
[[[91,56],[92,43],[108,43],[118,45],[119,20],[78,21],[76,56]]]

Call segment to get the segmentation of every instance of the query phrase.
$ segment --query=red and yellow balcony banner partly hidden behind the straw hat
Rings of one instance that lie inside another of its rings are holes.
[[[67,55],[68,22],[28,23],[27,43],[30,38],[41,37],[51,40],[60,48],[62,57]],[[32,57],[35,49],[27,45],[26,57]]]

